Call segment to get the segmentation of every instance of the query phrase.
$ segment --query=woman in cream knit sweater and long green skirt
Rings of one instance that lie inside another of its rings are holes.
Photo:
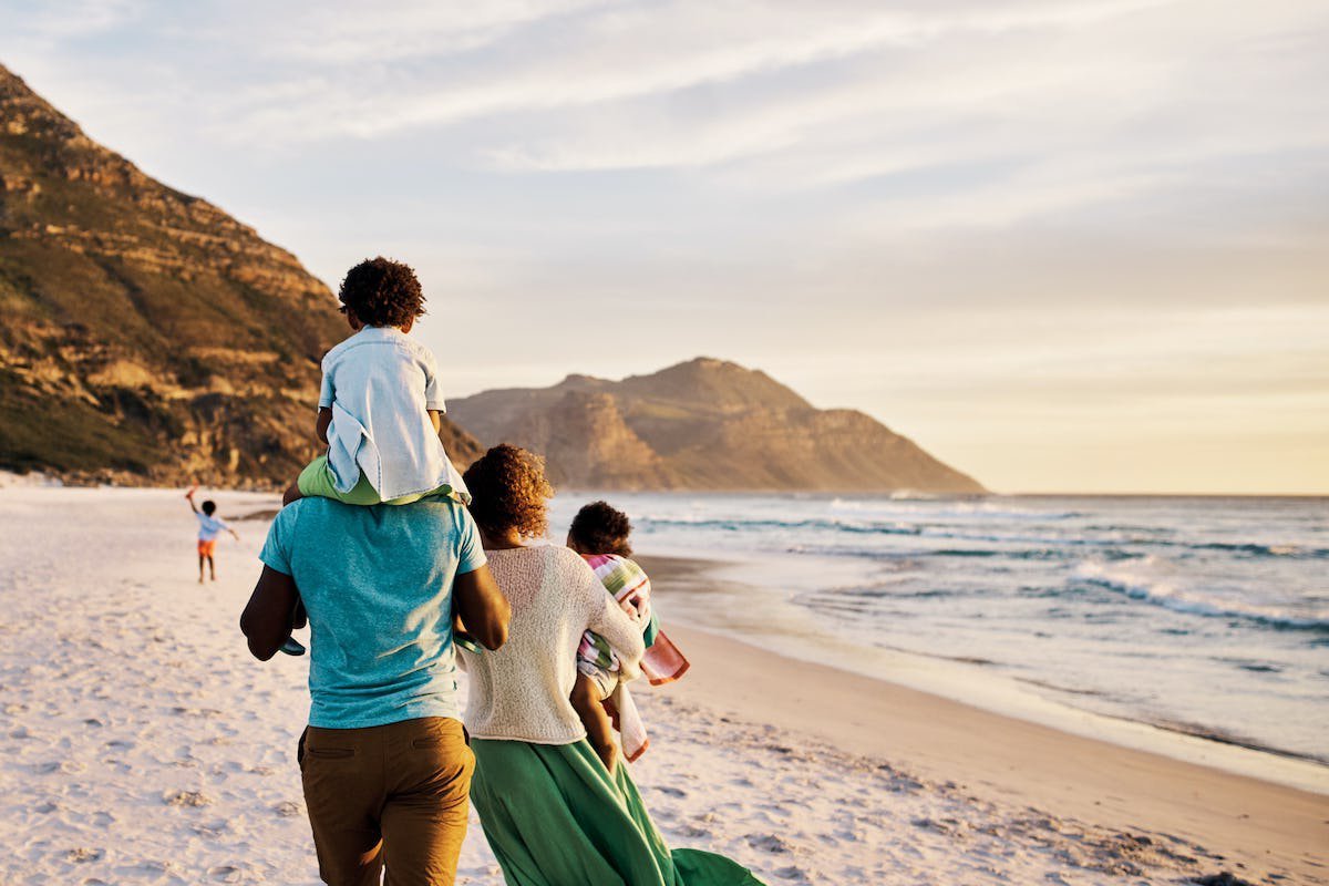
[[[528,547],[548,525],[544,461],[494,446],[466,470],[489,569],[512,606],[506,644],[462,652],[470,800],[509,886],[760,886],[712,853],[670,851],[626,764],[591,751],[569,695],[577,644],[595,631],[633,675],[642,632],[579,555]]]

